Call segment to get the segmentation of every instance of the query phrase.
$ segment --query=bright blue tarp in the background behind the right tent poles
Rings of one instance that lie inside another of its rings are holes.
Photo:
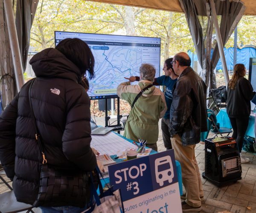
[[[213,49],[211,50],[211,54],[213,52]],[[192,64],[194,64],[194,61],[198,61],[197,55],[193,54],[190,50],[188,51],[189,57],[192,60]],[[233,57],[234,57],[234,48],[230,47],[228,49],[224,48],[224,54],[226,58],[227,63],[227,69],[233,70]],[[246,69],[249,69],[249,60],[250,58],[256,58],[256,49],[255,47],[244,47],[242,49],[237,48],[237,63],[243,63]],[[221,59],[218,60],[216,70],[222,69],[222,63]]]

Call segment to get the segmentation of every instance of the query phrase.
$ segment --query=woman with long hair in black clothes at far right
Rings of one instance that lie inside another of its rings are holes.
[[[250,115],[250,100],[255,92],[250,82],[244,78],[246,68],[244,64],[238,63],[234,66],[233,76],[228,83],[227,89],[227,114],[233,128],[233,138],[239,147],[241,163],[249,162],[249,158],[241,156],[244,134],[247,130]]]

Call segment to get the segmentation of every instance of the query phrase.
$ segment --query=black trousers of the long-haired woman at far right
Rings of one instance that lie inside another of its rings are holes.
[[[241,153],[244,143],[244,134],[249,124],[249,116],[241,118],[230,118],[230,123],[233,128],[232,138],[236,138],[236,143],[239,147],[239,152]]]

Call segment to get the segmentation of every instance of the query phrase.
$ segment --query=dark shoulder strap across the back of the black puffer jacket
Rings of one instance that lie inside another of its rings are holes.
[[[29,106],[30,106],[30,112],[31,112],[31,117],[32,117],[33,125],[34,125],[34,128],[35,128],[35,140],[38,142],[39,149],[40,149],[40,152],[41,152],[42,157],[43,157],[42,164],[46,164],[47,163],[47,159],[46,159],[45,154],[44,154],[44,146],[43,146],[43,144],[41,142],[39,130],[38,130],[38,127],[36,125],[35,114],[34,114],[34,111],[33,111],[32,101],[31,101],[31,89],[32,89],[32,85],[33,85],[35,79],[36,78],[34,78],[32,80],[32,82],[31,82],[31,84],[29,86]]]

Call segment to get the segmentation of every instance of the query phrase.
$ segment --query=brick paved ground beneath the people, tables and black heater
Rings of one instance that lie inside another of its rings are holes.
[[[96,118],[96,121],[98,125],[105,126],[105,118]],[[114,120],[112,119],[112,121]],[[165,150],[161,134],[161,131],[159,131],[159,141],[157,142],[159,152]],[[195,153],[200,173],[203,173],[204,145],[197,144]],[[224,187],[216,187],[201,177],[205,199],[202,203],[201,213],[218,213],[225,210],[231,213],[256,213],[256,155],[245,152],[242,155],[250,158],[250,163],[242,164],[242,179],[240,181]],[[8,180],[5,175],[2,176]],[[9,188],[0,184],[0,193],[7,191],[9,191]],[[41,213],[38,208],[33,210],[36,213]]]

